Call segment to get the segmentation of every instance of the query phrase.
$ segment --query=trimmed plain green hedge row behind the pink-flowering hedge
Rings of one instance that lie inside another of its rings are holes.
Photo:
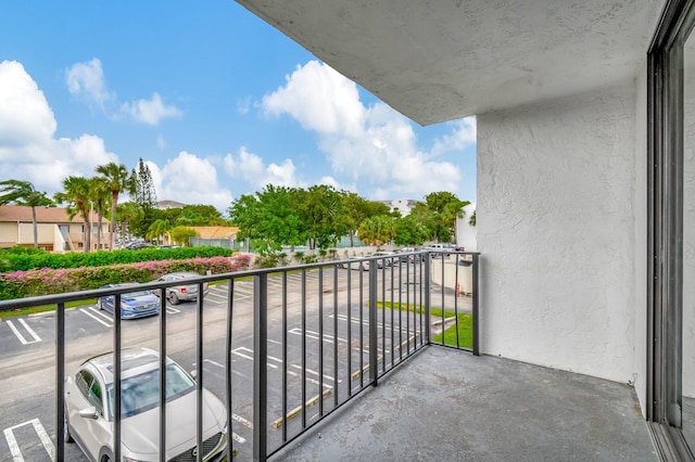
[[[36,268],[79,268],[105,267],[117,264],[136,264],[141,261],[182,260],[189,258],[229,257],[231,251],[222,247],[175,247],[143,248],[140,251],[114,252],[71,252],[51,254],[48,252],[3,252],[10,261],[11,271],[26,271]]]

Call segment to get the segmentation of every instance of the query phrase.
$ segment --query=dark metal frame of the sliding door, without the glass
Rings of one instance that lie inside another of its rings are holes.
[[[683,43],[695,24],[694,5],[666,2],[647,55],[646,411],[664,460],[695,460],[681,432]]]

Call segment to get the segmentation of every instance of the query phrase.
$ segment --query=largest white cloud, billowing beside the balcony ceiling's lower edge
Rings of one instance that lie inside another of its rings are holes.
[[[316,61],[299,66],[283,87],[264,97],[263,108],[268,115],[289,114],[315,131],[333,171],[366,183],[367,196],[458,190],[459,168],[434,156],[470,139],[468,121],[455,124],[454,133],[438,142],[437,153],[419,151],[408,119],[380,102],[366,107],[354,82]]]

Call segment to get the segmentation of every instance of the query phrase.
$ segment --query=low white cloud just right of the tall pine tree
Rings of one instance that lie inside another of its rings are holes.
[[[184,204],[210,204],[225,213],[231,203],[231,192],[217,181],[217,169],[212,158],[201,158],[181,151],[162,168],[146,162],[159,201],[178,201]]]

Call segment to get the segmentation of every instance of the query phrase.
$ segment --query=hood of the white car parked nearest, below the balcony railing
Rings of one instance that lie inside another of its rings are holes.
[[[195,392],[166,406],[166,459],[195,446]],[[225,406],[212,393],[203,390],[203,440],[222,432],[226,424]],[[143,457],[156,457],[160,447],[160,409],[124,419],[122,441],[128,450]]]

